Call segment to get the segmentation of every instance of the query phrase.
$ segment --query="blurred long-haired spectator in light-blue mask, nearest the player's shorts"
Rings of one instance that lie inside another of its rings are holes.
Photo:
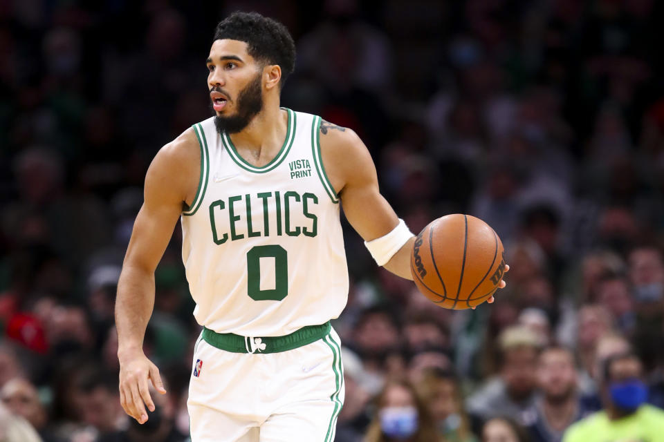
[[[364,442],[442,442],[427,406],[409,383],[392,381],[376,398]]]

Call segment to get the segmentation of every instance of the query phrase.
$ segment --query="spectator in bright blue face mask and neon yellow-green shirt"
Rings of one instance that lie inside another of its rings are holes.
[[[563,442],[661,441],[664,411],[645,403],[640,359],[631,352],[618,354],[603,369],[604,410],[572,425]]]

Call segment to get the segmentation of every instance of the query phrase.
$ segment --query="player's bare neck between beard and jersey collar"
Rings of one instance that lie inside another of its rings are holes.
[[[266,102],[263,109],[256,115],[246,128],[230,135],[233,144],[243,149],[262,151],[265,148],[279,149],[284,143],[288,115],[276,104]]]

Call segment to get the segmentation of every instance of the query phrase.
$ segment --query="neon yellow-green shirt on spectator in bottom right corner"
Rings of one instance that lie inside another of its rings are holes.
[[[571,425],[562,442],[664,442],[664,410],[641,405],[634,414],[611,421],[597,412]]]

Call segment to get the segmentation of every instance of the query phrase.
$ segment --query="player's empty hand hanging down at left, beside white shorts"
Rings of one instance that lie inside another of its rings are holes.
[[[154,412],[148,379],[160,394],[166,394],[159,369],[142,351],[120,357],[120,403],[124,412],[138,423],[147,422],[145,405]]]

